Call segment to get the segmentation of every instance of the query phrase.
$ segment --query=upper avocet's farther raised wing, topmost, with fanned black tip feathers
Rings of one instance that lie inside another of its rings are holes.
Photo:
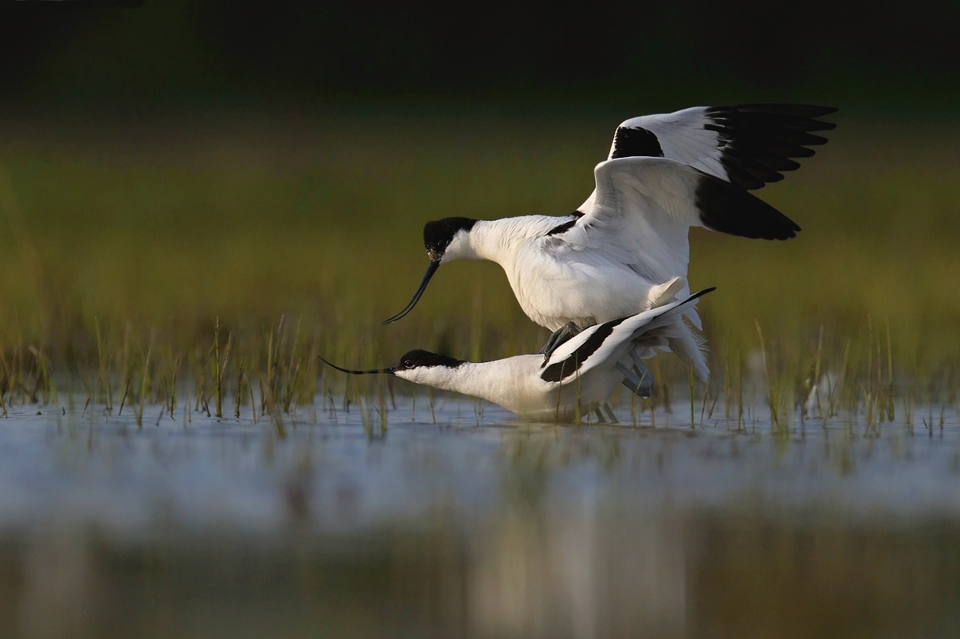
[[[643,115],[623,122],[613,133],[609,159],[665,157],[708,175],[758,189],[800,168],[797,158],[827,143],[813,131],[836,125],[818,118],[833,106],[691,106],[673,113]],[[581,211],[592,203],[591,195]]]

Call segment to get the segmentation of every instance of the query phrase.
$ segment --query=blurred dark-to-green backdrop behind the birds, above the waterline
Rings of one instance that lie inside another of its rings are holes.
[[[796,240],[692,232],[714,371],[746,366],[758,323],[791,379],[818,351],[955,379],[955,3],[136,5],[0,5],[8,381],[203,375],[216,317],[248,371],[280,332],[311,374],[317,352],[530,352],[546,332],[492,264],[379,325],[419,282],[423,223],[564,214],[620,121],[763,101],[839,106],[838,127],[757,192]]]

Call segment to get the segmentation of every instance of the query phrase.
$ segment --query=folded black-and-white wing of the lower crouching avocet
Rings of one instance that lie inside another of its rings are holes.
[[[593,367],[615,362],[625,356],[636,341],[666,348],[667,340],[675,337],[669,330],[671,325],[682,326],[678,316],[688,311],[699,297],[713,290],[705,289],[683,300],[634,316],[590,326],[550,354],[540,367],[540,379],[545,382],[564,382],[574,374],[582,375]],[[663,334],[657,335],[658,331]]]

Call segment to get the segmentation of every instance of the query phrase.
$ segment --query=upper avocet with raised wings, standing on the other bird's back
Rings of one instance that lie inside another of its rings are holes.
[[[814,154],[808,147],[827,139],[810,131],[835,126],[816,118],[835,110],[695,106],[627,120],[613,135],[609,159],[594,169],[595,190],[573,213],[427,223],[426,274],[410,303],[385,323],[409,313],[437,269],[456,259],[498,263],[523,311],[551,330],[622,318],[684,295],[690,226],[766,240],[796,235],[800,226],[748,189],[797,169],[791,158]],[[687,317],[701,327],[695,310]],[[671,347],[706,379],[692,331]]]

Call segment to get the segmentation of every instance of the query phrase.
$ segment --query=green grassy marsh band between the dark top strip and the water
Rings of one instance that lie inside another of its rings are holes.
[[[282,425],[319,394],[380,432],[393,382],[317,356],[536,350],[546,331],[492,264],[445,266],[408,318],[380,320],[420,280],[425,221],[572,210],[626,115],[0,119],[0,410],[66,390],[139,422],[147,404],[173,416],[192,401]],[[710,386],[661,356],[635,421],[684,388],[691,425],[722,400],[738,429],[757,404],[780,430],[842,412],[876,429],[956,404],[960,123],[891,139],[842,115],[801,171],[758,192],[804,227],[797,239],[694,229],[691,286],[718,287],[701,304]]]

